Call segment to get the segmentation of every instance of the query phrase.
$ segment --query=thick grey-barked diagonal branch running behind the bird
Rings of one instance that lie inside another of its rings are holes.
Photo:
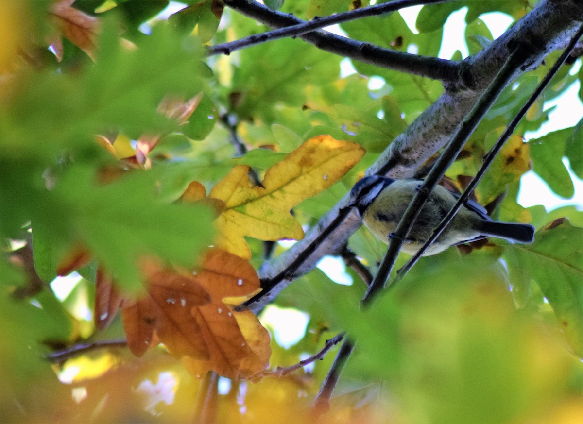
[[[438,100],[426,109],[408,128],[401,133],[380,158],[368,169],[367,174],[386,174],[392,178],[410,178],[415,170],[451,139],[464,116],[475,104],[476,98],[486,89],[500,70],[517,44],[524,44],[531,54],[523,63],[517,64],[515,77],[540,65],[550,52],[563,48],[573,36],[577,26],[583,21],[583,3],[574,0],[543,0],[522,20],[514,24],[503,36],[494,40],[486,49],[463,62],[462,80],[459,86],[449,87]],[[447,111],[444,112],[444,111]],[[265,262],[261,277],[269,279],[302,255],[314,241],[338,218],[339,211],[346,207],[348,196],[343,197],[329,213],[324,215],[317,226],[304,239],[295,243],[277,258]],[[361,225],[355,213],[347,215],[342,224],[336,226],[319,243],[313,252],[296,268],[298,277],[308,273],[318,260],[325,255],[339,251],[346,240]],[[257,312],[289,284],[283,280],[271,293],[252,305]]]

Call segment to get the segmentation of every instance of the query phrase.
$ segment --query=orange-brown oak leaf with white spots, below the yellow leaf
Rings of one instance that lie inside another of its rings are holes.
[[[236,379],[266,368],[271,354],[268,332],[251,312],[234,312],[225,303],[259,289],[257,273],[247,260],[209,249],[194,271],[162,268],[152,261],[142,268],[148,295],[122,312],[134,355],[143,355],[157,334],[194,375],[215,370]]]

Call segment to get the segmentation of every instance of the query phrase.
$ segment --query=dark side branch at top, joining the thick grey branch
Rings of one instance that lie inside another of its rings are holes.
[[[298,19],[293,15],[275,12],[256,1],[224,0],[224,3],[242,15],[251,17],[272,28],[290,27],[305,23],[304,20]],[[399,52],[389,48],[378,47],[371,43],[336,36],[322,30],[303,34],[299,38],[307,43],[314,44],[320,50],[370,63],[381,68],[395,69],[412,75],[440,80],[444,84],[459,82],[459,62]]]

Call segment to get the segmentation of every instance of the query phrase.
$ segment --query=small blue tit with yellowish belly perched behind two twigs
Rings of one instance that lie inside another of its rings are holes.
[[[364,225],[378,239],[388,243],[389,237],[395,231],[422,183],[420,179],[366,176],[350,191],[349,206],[356,208]],[[458,198],[459,195],[456,193],[442,186],[436,186],[403,243],[403,252],[415,255]],[[532,225],[493,221],[482,206],[469,200],[433,245],[427,249],[424,256],[435,255],[449,246],[489,236],[519,243],[532,243],[534,234],[535,228]]]

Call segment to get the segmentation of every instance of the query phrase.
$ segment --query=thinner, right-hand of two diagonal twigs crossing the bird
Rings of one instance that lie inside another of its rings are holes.
[[[486,171],[490,167],[490,164],[494,161],[494,158],[496,158],[496,155],[498,154],[498,152],[500,152],[500,150],[504,146],[504,143],[512,135],[512,133],[514,132],[514,130],[518,126],[518,123],[522,120],[524,115],[526,115],[526,112],[528,111],[528,109],[531,108],[531,106],[535,103],[536,99],[540,96],[540,94],[542,94],[543,90],[545,90],[546,86],[550,83],[550,81],[556,75],[556,73],[559,70],[559,68],[561,67],[561,65],[563,65],[563,63],[567,60],[567,58],[571,54],[571,51],[573,51],[573,49],[575,48],[575,45],[577,45],[578,40],[581,38],[581,36],[583,36],[583,25],[579,28],[579,30],[577,31],[575,36],[573,36],[573,38],[571,38],[571,42],[569,43],[567,48],[563,51],[563,54],[561,54],[559,59],[557,59],[557,61],[554,62],[553,67],[551,69],[549,69],[549,72],[547,72],[547,74],[545,75],[543,80],[536,87],[535,91],[533,91],[533,93],[528,98],[528,100],[526,100],[526,103],[524,105],[522,105],[522,107],[519,109],[518,113],[514,116],[512,121],[510,121],[510,123],[505,128],[502,135],[500,136],[500,138],[497,140],[496,144],[494,144],[494,146],[490,149],[488,154],[486,154],[486,156],[484,156],[484,162],[482,164],[482,167],[480,167],[479,171],[476,173],[474,178],[472,178],[472,181],[470,181],[470,183],[468,184],[468,186],[466,187],[466,189],[464,190],[462,195],[459,197],[458,201],[455,203],[454,207],[452,207],[451,210],[449,211],[449,213],[447,215],[445,215],[445,217],[440,222],[440,224],[437,226],[437,228],[434,229],[433,234],[431,234],[431,237],[429,239],[427,239],[427,241],[424,243],[422,248],[419,249],[419,251],[415,254],[415,256],[413,256],[411,259],[409,259],[409,261],[405,264],[405,266],[403,266],[397,272],[397,277],[395,279],[395,282],[399,281],[403,277],[405,277],[405,274],[408,273],[408,271],[410,270],[410,268],[413,265],[415,265],[415,263],[423,255],[423,253],[425,253],[426,250],[429,249],[429,246],[431,246],[431,243],[436,241],[436,239],[441,235],[441,232],[445,229],[445,227],[447,227],[449,222],[451,222],[451,220],[454,218],[455,214],[458,213],[458,211],[461,209],[463,204],[466,203],[466,201],[472,195],[473,190],[476,188],[477,184],[480,182],[480,180],[482,179],[484,174],[486,174]]]

